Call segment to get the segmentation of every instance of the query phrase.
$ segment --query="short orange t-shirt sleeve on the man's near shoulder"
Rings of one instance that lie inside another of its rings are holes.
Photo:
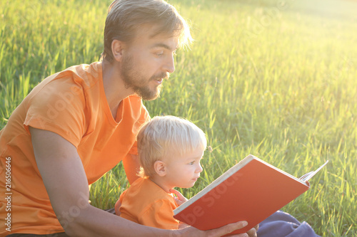
[[[85,127],[85,100],[80,85],[71,83],[70,78],[53,80],[33,95],[28,106],[24,120],[27,132],[29,126],[55,132],[78,147]]]

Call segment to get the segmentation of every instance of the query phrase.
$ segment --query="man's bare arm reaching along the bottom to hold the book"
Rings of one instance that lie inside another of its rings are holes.
[[[174,231],[141,226],[91,206],[84,167],[76,147],[54,132],[30,127],[37,167],[54,212],[69,236],[222,236],[243,222],[211,231]],[[244,234],[237,235],[244,236]]]

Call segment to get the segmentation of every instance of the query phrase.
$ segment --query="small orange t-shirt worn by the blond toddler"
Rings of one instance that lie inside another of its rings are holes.
[[[120,216],[144,226],[178,229],[174,196],[150,179],[139,178],[121,194]]]

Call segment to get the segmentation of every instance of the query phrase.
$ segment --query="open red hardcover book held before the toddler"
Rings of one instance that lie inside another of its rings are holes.
[[[250,154],[178,206],[174,218],[200,230],[248,221],[248,226],[233,232],[246,233],[308,190],[308,179],[327,162],[298,179]]]

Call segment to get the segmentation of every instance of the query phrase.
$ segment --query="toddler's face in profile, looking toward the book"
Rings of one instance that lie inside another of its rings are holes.
[[[204,149],[197,148],[193,152],[179,154],[171,152],[170,156],[166,157],[166,185],[174,189],[174,187],[190,188],[195,184],[202,167],[200,161],[203,157]]]

